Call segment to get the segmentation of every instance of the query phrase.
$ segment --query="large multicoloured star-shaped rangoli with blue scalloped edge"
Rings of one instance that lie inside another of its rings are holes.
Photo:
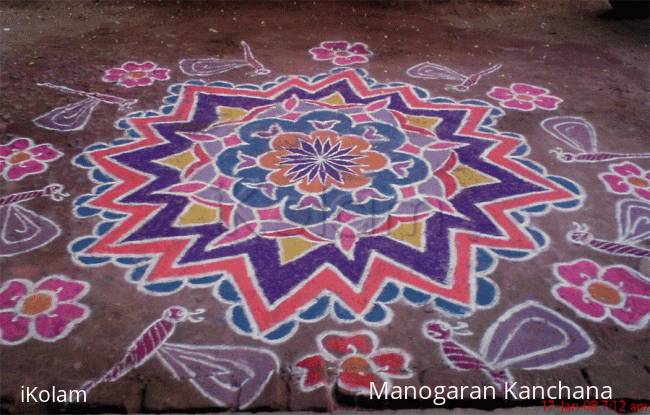
[[[266,342],[325,316],[385,324],[398,300],[490,306],[498,259],[548,245],[529,218],[582,203],[483,101],[346,68],[170,92],[74,160],[97,183],[74,212],[103,222],[70,252],[150,294],[210,287],[235,331]]]

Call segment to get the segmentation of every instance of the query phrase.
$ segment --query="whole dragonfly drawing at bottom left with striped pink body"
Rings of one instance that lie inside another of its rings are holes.
[[[278,370],[277,357],[271,351],[246,346],[167,343],[178,323],[203,321],[203,312],[169,307],[131,343],[120,362],[96,380],[84,383],[81,390],[88,392],[100,383],[116,381],[156,356],[176,379],[189,380],[217,405],[245,408]]]

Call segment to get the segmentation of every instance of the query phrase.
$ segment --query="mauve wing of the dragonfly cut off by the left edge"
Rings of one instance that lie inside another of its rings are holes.
[[[31,251],[59,236],[49,219],[18,205],[0,207],[0,257]]]

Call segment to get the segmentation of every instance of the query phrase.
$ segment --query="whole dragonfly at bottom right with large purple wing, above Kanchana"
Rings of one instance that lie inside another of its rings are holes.
[[[461,323],[441,320],[424,324],[425,337],[440,344],[447,363],[458,370],[481,370],[502,391],[512,382],[511,368],[551,369],[584,359],[595,350],[587,333],[571,320],[535,301],[506,311],[483,335],[474,352],[454,336],[472,333]]]

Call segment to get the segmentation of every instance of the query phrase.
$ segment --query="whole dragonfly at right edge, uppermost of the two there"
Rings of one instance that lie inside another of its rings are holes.
[[[551,150],[564,163],[596,163],[617,159],[650,158],[650,153],[601,153],[596,149],[596,129],[580,117],[551,117],[541,123],[544,131],[577,150],[566,153],[561,148]]]

